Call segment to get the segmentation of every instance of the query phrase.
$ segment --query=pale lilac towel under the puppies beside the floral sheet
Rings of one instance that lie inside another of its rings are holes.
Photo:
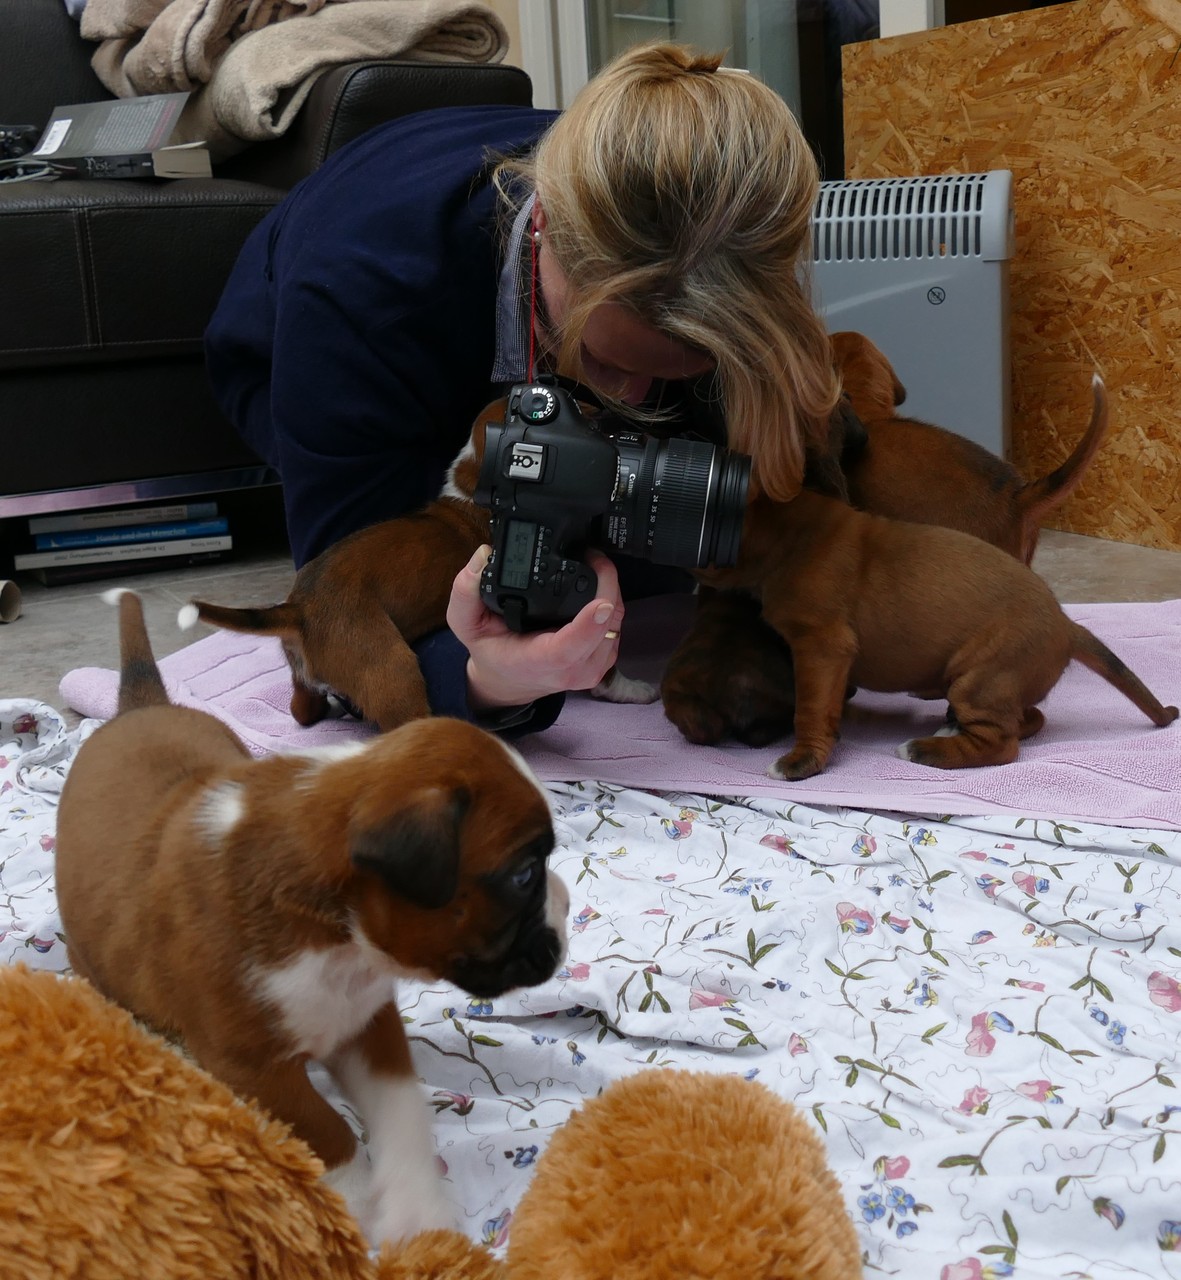
[[[658,680],[663,657],[691,616],[692,600],[641,600],[628,608],[619,666]],[[1090,627],[1163,703],[1181,699],[1181,599],[1162,604],[1080,604]],[[916,620],[921,626],[921,620]],[[287,710],[290,682],[275,640],[218,632],[164,658],[175,701],[203,707],[256,754],[339,742],[371,732],[352,719],[299,728]],[[61,681],[84,716],[114,713],[116,676],[84,667]],[[778,782],[766,767],[784,746],[692,746],[660,704],[617,707],[571,695],[557,724],[518,744],[539,777],[705,795],[782,796],[801,804],[935,814],[1015,813],[1121,827],[1181,829],[1181,721],[1154,728],[1106,681],[1072,663],[1043,704],[1045,728],[1013,764],[931,769],[894,748],[937,728],[943,703],[860,692],[829,768],[805,782]]]

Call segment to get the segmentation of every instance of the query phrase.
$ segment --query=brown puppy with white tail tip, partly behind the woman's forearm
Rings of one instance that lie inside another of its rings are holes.
[[[473,494],[484,431],[504,420],[504,399],[485,408],[452,463],[443,493],[422,511],[361,529],[296,575],[281,604],[228,608],[192,600],[183,628],[198,621],[229,631],[279,636],[292,669],[292,716],[315,724],[340,694],[380,730],[430,716],[411,645],[447,625],[456,575],[491,540],[489,512]],[[615,667],[591,690],[617,703],[650,703],[656,690]]]

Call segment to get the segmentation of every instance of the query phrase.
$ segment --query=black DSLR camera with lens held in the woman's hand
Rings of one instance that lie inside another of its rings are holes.
[[[681,568],[733,564],[750,467],[701,440],[583,415],[557,380],[518,383],[503,425],[485,429],[475,495],[493,513],[484,603],[514,631],[567,622],[595,598],[587,547]]]

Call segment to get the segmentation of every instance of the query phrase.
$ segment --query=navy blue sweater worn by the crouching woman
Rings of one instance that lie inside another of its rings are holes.
[[[279,474],[297,566],[438,497],[495,397],[491,168],[554,118],[476,106],[379,125],[246,242],[206,361],[223,411]],[[470,717],[462,645],[440,634],[418,658],[434,709]],[[518,727],[541,728],[559,708],[543,699]]]

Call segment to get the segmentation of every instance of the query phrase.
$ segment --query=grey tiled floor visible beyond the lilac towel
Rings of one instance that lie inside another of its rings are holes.
[[[1034,567],[1066,603],[1171,600],[1181,598],[1181,552],[1108,543],[1047,531]],[[74,667],[116,666],[115,614],[99,594],[134,586],[143,598],[157,657],[207,635],[177,627],[177,612],[192,596],[219,604],[264,604],[287,595],[293,571],[281,539],[262,539],[239,558],[175,575],[138,575],[97,584],[45,588],[23,580],[24,612],[0,625],[0,696],[37,698],[61,709],[61,676]]]

